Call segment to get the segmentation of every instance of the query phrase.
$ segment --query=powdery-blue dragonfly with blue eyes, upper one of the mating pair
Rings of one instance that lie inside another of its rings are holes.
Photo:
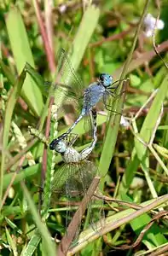
[[[67,137],[67,135],[73,130],[73,128],[78,124],[78,122],[84,117],[89,117],[91,119],[91,110],[96,106],[98,102],[103,101],[105,108],[109,111],[113,111],[112,106],[108,104],[108,99],[110,97],[116,97],[116,89],[119,81],[113,82],[113,77],[108,73],[101,73],[99,79],[90,84],[85,90],[82,81],[78,78],[72,68],[72,64],[67,56],[64,49],[61,49],[61,54],[59,56],[59,72],[61,73],[62,84],[55,84],[55,89],[63,90],[65,96],[70,96],[76,99],[77,102],[81,102],[82,109],[78,115],[78,119],[72,124],[72,126],[61,135],[61,138]],[[69,83],[67,84],[67,77],[63,74],[68,74]],[[90,122],[90,121],[89,121]],[[54,139],[50,144],[49,148],[51,150],[55,149],[55,143],[57,139]]]

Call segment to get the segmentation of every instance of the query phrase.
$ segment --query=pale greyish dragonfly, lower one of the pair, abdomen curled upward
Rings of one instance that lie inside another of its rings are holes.
[[[69,224],[72,214],[72,202],[80,202],[84,195],[87,193],[91,182],[98,174],[96,166],[87,158],[96,146],[96,111],[92,111],[92,125],[93,125],[93,141],[90,145],[84,148],[80,153],[72,147],[75,141],[78,139],[78,135],[68,134],[67,137],[58,137],[55,140],[55,151],[61,154],[64,161],[63,166],[55,172],[55,177],[52,183],[51,198],[57,197],[57,195],[66,196],[67,198],[67,216],[66,227]],[[99,208],[92,210],[93,202],[88,204],[88,212],[90,214],[90,224],[94,230],[94,223],[100,218],[103,219],[102,210],[103,201],[100,201]],[[78,231],[80,227],[78,228]],[[77,231],[77,233],[78,233]],[[77,236],[78,234],[76,234]]]

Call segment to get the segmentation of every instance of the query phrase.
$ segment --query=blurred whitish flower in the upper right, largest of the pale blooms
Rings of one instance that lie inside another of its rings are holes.
[[[148,14],[144,19],[145,25],[145,35],[147,38],[152,37],[154,29],[163,29],[165,23],[163,20],[157,20],[153,17],[153,15]]]

